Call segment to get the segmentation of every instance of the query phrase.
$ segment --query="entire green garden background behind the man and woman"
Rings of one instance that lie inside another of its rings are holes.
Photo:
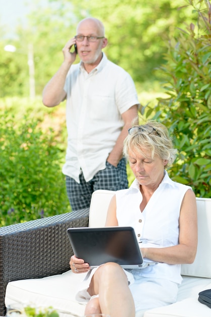
[[[210,196],[209,1],[0,0],[0,226],[71,211],[65,103],[45,108],[41,94],[89,16],[104,23],[107,57],[135,82],[140,122],[170,128],[179,149],[170,176]]]

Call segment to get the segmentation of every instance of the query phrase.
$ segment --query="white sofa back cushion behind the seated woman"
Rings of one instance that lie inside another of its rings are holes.
[[[110,201],[115,191],[99,189],[93,192],[89,226],[103,227]],[[198,214],[198,248],[193,264],[182,264],[181,274],[211,278],[211,199],[196,198]]]

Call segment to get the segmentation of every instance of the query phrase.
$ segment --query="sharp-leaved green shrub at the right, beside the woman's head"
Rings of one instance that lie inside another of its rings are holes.
[[[169,127],[179,149],[170,169],[175,181],[192,186],[197,196],[211,196],[211,5],[189,0],[197,23],[168,42],[167,63],[160,69],[168,98],[160,98],[153,117]]]

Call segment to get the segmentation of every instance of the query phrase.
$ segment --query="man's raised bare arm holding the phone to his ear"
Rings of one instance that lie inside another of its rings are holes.
[[[66,98],[64,90],[67,73],[76,59],[76,53],[70,53],[75,44],[75,37],[71,38],[63,48],[64,62],[57,73],[47,83],[42,93],[42,102],[47,107],[54,107]]]

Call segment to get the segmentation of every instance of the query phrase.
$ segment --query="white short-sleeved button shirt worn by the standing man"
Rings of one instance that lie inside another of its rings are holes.
[[[103,54],[87,73],[83,63],[71,66],[65,84],[68,147],[63,173],[79,183],[105,168],[124,122],[121,114],[138,104],[131,76]]]

